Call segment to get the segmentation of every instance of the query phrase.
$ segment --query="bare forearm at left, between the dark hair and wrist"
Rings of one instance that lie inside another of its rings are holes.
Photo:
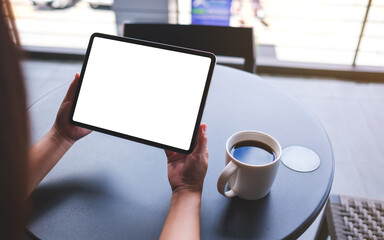
[[[28,195],[57,164],[73,142],[63,138],[53,127],[28,153]]]

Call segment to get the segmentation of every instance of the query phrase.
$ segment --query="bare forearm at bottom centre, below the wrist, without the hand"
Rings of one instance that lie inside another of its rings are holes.
[[[200,192],[173,193],[160,239],[200,239]]]

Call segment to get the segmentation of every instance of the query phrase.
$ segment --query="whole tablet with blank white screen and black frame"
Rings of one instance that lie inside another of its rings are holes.
[[[191,153],[215,62],[208,52],[94,33],[70,121]]]

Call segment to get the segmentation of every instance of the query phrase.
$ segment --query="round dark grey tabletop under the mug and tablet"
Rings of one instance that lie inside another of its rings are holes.
[[[29,109],[33,142],[52,126],[67,87]],[[301,235],[320,213],[333,181],[332,148],[316,117],[260,77],[218,65],[203,122],[208,124],[210,158],[201,206],[202,239]],[[281,164],[265,198],[225,198],[216,190],[225,142],[242,130],[266,132],[282,148],[310,148],[321,165],[300,173]],[[29,230],[42,239],[156,239],[170,196],[162,149],[93,132],[77,142],[33,192]]]

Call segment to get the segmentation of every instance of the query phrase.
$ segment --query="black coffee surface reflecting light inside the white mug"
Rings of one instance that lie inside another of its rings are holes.
[[[276,158],[276,154],[270,146],[250,140],[236,143],[230,153],[240,162],[251,165],[268,164]]]

